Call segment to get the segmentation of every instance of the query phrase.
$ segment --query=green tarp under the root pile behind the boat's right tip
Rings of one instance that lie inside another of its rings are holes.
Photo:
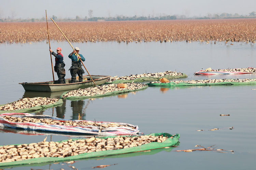
[[[166,79],[180,79],[180,78],[187,78],[186,74],[183,75],[177,75],[177,76],[172,76],[172,75],[165,75],[164,77],[141,77],[138,79],[134,80],[114,80],[113,82],[105,82],[105,84],[118,84],[118,83],[136,83],[136,82],[147,82],[147,81],[159,81],[161,78],[166,78]]]

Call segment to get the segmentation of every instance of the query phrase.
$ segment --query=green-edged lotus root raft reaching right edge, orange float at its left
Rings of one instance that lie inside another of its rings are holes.
[[[212,80],[188,80],[171,81],[169,83],[150,82],[148,86],[209,86],[209,85],[256,85],[256,79],[212,79]]]

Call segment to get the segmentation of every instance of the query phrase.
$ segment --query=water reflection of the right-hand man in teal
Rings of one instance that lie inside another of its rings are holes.
[[[86,113],[83,111],[84,101],[71,101],[73,111],[72,120],[86,120]]]

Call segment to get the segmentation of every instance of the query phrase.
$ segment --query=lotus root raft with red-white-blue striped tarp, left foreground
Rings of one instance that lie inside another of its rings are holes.
[[[87,120],[66,120],[47,115],[28,113],[3,113],[0,126],[33,131],[76,133],[84,135],[130,135],[138,134],[139,127],[128,123],[93,122]]]

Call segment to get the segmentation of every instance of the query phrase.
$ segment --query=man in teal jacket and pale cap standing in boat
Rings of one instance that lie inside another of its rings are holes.
[[[69,58],[71,58],[72,61],[72,66],[70,67],[70,74],[71,74],[71,83],[75,82],[75,78],[76,78],[76,74],[79,77],[79,82],[83,81],[83,73],[84,70],[82,68],[82,64],[81,61],[79,59],[81,59],[83,62],[85,61],[85,58],[83,57],[82,54],[79,54],[79,48],[75,47],[75,50],[69,54]],[[76,55],[75,52],[78,54]]]

